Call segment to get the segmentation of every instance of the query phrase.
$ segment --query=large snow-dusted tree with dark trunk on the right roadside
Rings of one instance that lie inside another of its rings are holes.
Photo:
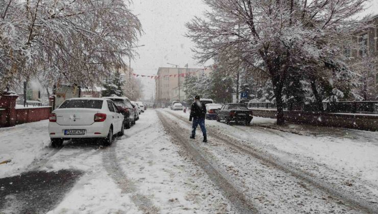
[[[186,26],[200,63],[223,53],[263,64],[273,85],[277,124],[284,124],[283,90],[290,72],[343,53],[353,19],[367,0],[204,0],[211,10]],[[315,65],[317,66],[317,64]],[[306,70],[304,70],[306,71]]]

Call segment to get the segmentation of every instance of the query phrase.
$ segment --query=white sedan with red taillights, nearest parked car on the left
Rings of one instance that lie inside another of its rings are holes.
[[[114,102],[104,98],[66,99],[49,117],[52,147],[62,146],[64,140],[99,138],[112,143],[114,133],[124,133],[124,116]]]

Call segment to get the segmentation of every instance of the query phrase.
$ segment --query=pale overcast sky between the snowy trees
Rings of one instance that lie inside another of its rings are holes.
[[[378,13],[378,0],[371,1],[371,7],[364,13]],[[158,67],[170,66],[167,63],[189,67],[196,65],[191,47],[193,43],[184,37],[184,24],[194,16],[201,16],[206,6],[202,0],[133,0],[133,13],[141,21],[144,35],[140,37],[137,49],[139,58],[131,62],[137,74],[156,74]],[[145,85],[145,98],[154,93],[155,81],[139,77]]]

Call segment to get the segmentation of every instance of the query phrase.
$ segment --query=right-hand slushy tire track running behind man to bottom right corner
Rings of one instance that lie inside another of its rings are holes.
[[[169,111],[164,111],[164,112],[178,118],[179,120],[187,123],[188,125],[191,125],[191,122],[185,120],[181,116],[173,114]],[[367,213],[376,213],[376,210],[378,210],[377,204],[368,203],[366,199],[353,195],[353,192],[348,192],[345,190],[343,190],[345,192],[341,192],[335,189],[335,187],[332,186],[331,184],[323,182],[317,177],[313,177],[314,176],[313,174],[302,171],[300,169],[296,169],[293,166],[289,166],[285,163],[280,162],[279,159],[275,158],[274,156],[270,155],[267,152],[258,151],[255,148],[252,148],[247,145],[243,145],[238,140],[235,140],[212,127],[208,129],[209,129],[207,133],[208,136],[212,138],[216,138],[219,141],[223,142],[224,144],[233,147],[234,149],[237,149],[243,153],[251,155],[252,157],[259,159],[260,161],[266,163],[267,165],[270,165],[278,170],[281,170],[282,172],[291,174],[292,176],[303,181],[304,183],[314,186],[315,188],[328,194],[329,196],[331,196],[332,200],[335,200],[336,202],[339,202],[339,203],[342,202],[346,206],[349,206],[354,209],[359,209]]]

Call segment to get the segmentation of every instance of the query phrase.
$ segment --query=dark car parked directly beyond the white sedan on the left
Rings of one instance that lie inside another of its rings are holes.
[[[133,110],[133,106],[127,97],[111,96],[103,97],[105,99],[111,99],[120,111],[124,115],[124,126],[129,129],[135,124],[136,114]]]

